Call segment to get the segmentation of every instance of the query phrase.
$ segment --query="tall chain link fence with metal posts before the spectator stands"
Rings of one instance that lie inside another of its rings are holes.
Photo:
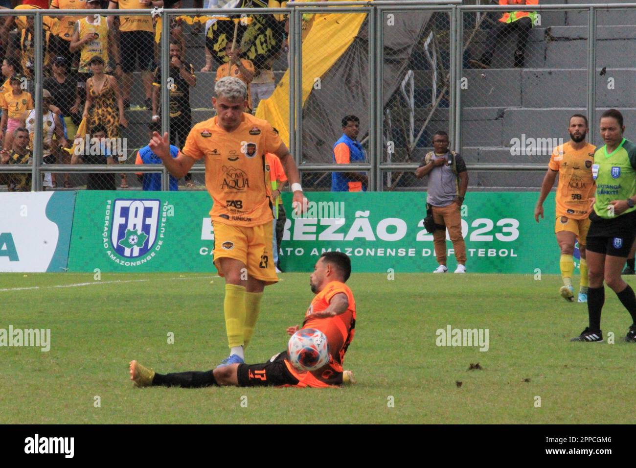
[[[413,171],[439,131],[471,190],[537,188],[570,115],[591,143],[598,111],[636,117],[636,4],[471,3],[0,10],[0,190],[203,190],[202,163],[172,180],[143,148],[151,131],[183,148],[222,76],[249,84],[306,190],[425,190]]]

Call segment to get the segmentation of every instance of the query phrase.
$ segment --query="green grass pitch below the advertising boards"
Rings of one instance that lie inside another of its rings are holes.
[[[312,299],[307,273],[281,278],[265,290],[248,362],[284,350]],[[633,422],[636,345],[623,341],[630,317],[616,295],[607,288],[602,319],[616,343],[570,343],[586,305],[563,301],[557,276],[531,274],[354,273],[354,386],[133,388],[132,359],[172,372],[226,357],[224,284],[212,274],[0,274],[0,329],[51,329],[48,352],[0,348],[0,423]],[[437,346],[447,325],[488,329],[488,351]]]

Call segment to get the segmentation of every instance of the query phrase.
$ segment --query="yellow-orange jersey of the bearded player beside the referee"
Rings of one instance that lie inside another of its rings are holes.
[[[548,167],[558,171],[556,216],[587,218],[589,199],[596,190],[592,177],[595,149],[596,146],[588,143],[581,150],[574,150],[568,141],[553,150]]]

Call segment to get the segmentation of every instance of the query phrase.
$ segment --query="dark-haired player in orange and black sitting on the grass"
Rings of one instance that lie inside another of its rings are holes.
[[[181,386],[197,388],[211,385],[237,386],[310,386],[328,387],[355,383],[350,371],[342,370],[342,362],[354,339],[356,302],[345,285],[351,274],[351,260],[342,252],[325,252],[311,274],[309,283],[314,300],[305,313],[303,329],[320,330],[329,344],[329,364],[317,371],[300,372],[287,360],[287,351],[272,357],[264,364],[230,364],[207,372],[175,372],[158,374],[151,369],[130,362],[130,379],[137,386]],[[298,325],[287,328],[287,334],[298,331]]]

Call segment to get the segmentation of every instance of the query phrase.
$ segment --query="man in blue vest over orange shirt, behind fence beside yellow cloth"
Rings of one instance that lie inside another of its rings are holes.
[[[357,136],[360,119],[355,115],[342,118],[342,136],[333,145],[333,160],[338,164],[365,162],[364,150]],[[366,192],[366,173],[331,173],[331,192]]]

